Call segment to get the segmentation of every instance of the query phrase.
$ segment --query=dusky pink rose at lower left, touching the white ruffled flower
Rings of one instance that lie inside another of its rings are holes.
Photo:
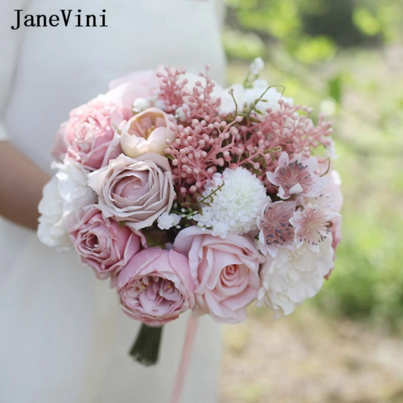
[[[139,233],[104,218],[95,205],[83,209],[81,219],[70,228],[69,234],[81,261],[91,266],[101,280],[117,276],[146,245]]]

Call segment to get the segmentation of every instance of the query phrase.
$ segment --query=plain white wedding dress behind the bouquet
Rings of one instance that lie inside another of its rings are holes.
[[[218,0],[217,0],[218,2]],[[110,80],[159,64],[223,80],[220,4],[213,0],[1,0],[0,138],[49,170],[56,129]],[[15,9],[102,14],[108,28],[10,29]],[[0,172],[7,175],[7,172]],[[127,352],[139,323],[73,251],[41,245],[0,219],[0,403],[169,402],[187,317],[165,326],[160,363]],[[216,401],[220,328],[203,317],[182,402]]]

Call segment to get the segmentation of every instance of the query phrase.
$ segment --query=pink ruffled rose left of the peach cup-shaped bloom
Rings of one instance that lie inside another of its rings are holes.
[[[70,119],[60,126],[54,154],[61,155],[64,140],[67,158],[90,171],[101,168],[122,152],[114,126],[130,116],[130,111],[118,109],[104,97],[98,97],[72,110]]]

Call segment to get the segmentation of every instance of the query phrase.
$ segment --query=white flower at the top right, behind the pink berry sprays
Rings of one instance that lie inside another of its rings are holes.
[[[238,112],[241,112],[245,104],[249,107],[256,99],[262,96],[268,87],[269,85],[264,80],[255,80],[252,88],[244,88],[241,84],[234,84],[232,87],[223,91],[220,110],[227,114],[235,112],[234,100],[228,92],[231,89],[233,90],[233,97],[238,105]],[[264,113],[267,108],[272,108],[273,110],[280,109],[280,98],[293,105],[293,100],[282,96],[282,92],[279,90],[281,90],[280,87],[269,88],[262,96],[262,99],[256,104],[256,109],[262,113]]]

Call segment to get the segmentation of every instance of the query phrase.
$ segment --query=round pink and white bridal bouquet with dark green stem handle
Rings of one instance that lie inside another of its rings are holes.
[[[255,302],[290,314],[321,288],[341,240],[330,123],[258,78],[138,72],[61,124],[38,236],[73,247],[144,323],[131,354],[155,363],[161,327],[191,309],[239,323]]]

